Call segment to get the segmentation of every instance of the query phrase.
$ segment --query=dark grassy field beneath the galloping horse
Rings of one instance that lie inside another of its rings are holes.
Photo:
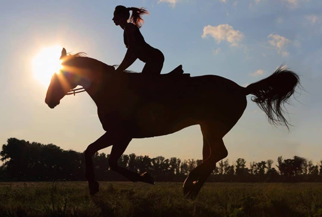
[[[0,182],[0,216],[322,216],[322,183]]]

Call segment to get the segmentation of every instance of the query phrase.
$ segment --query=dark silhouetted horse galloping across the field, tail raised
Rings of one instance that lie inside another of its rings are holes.
[[[80,85],[97,105],[106,132],[84,152],[90,195],[99,191],[92,155],[100,149],[112,145],[108,160],[111,170],[132,182],[154,184],[147,172],[139,174],[117,163],[132,138],[166,135],[199,124],[203,160],[183,184],[184,195],[196,197],[216,163],[228,155],[223,136],[242,116],[246,95],[254,95],[251,100],[266,113],[270,123],[289,128],[284,104],[289,103],[299,77],[283,65],[267,78],[242,87],[217,75],[116,73],[113,66],[83,54],[67,54],[63,48],[62,70],[52,76],[45,103],[54,108],[65,95],[77,93]]]

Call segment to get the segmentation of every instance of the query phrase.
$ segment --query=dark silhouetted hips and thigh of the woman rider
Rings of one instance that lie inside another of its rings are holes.
[[[150,61],[147,61],[142,69],[142,74],[156,75],[161,73],[163,67],[164,55],[158,49]]]

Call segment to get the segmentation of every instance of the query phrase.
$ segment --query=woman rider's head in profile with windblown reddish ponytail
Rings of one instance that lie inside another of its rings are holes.
[[[132,15],[130,17],[130,11],[132,11]],[[137,27],[141,27],[141,23],[144,23],[142,19],[143,14],[149,14],[149,12],[144,8],[137,7],[125,7],[123,5],[118,5],[115,7],[113,21],[115,25],[120,25],[124,22],[127,22],[129,19],[131,23],[136,25]]]

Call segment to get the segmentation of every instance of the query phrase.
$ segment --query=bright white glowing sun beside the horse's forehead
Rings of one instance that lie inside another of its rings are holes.
[[[62,69],[62,64],[59,59],[61,56],[62,47],[53,45],[43,47],[33,58],[33,75],[34,78],[48,86],[52,75],[58,73]]]

